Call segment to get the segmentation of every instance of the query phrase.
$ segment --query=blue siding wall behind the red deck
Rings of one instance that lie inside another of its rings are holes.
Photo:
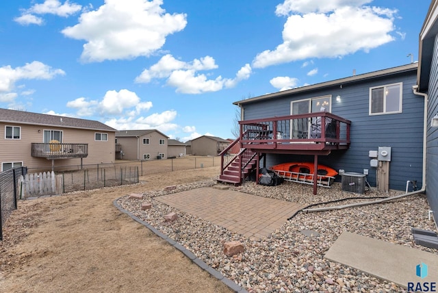
[[[389,188],[404,190],[407,180],[416,180],[422,186],[422,147],[424,99],[413,94],[417,71],[398,73],[366,81],[332,86],[295,93],[289,97],[244,103],[244,119],[268,118],[290,115],[291,101],[331,95],[331,112],[351,120],[350,149],[332,151],[330,155],[318,157],[320,164],[335,170],[363,173],[369,170],[367,180],[376,186],[376,168],[370,167],[368,152],[378,146],[391,146],[389,164]],[[402,113],[369,115],[370,88],[402,82]],[[336,101],[337,96],[341,101]],[[282,162],[311,161],[313,156],[268,154],[267,166]],[[337,180],[339,180],[337,178]]]

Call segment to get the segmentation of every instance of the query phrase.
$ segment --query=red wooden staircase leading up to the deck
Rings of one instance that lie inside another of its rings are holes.
[[[218,182],[240,185],[251,171],[257,168],[259,153],[250,149],[240,149],[240,139],[237,138],[227,149],[220,153],[221,168]]]

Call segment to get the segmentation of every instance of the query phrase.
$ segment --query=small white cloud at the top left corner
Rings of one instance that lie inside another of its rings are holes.
[[[68,0],[62,4],[58,0],[45,0],[43,3],[36,3],[31,8],[23,10],[21,16],[14,18],[14,21],[21,25],[42,25],[43,19],[35,14],[54,14],[57,16],[68,17],[79,11],[82,6],[70,3]]]

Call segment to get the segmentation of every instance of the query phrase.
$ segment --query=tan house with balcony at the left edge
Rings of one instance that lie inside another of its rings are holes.
[[[94,120],[0,109],[1,171],[114,162],[116,129]]]

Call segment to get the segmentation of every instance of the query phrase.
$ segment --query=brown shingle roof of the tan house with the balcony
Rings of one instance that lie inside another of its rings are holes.
[[[31,125],[47,125],[64,128],[93,129],[103,131],[117,131],[96,120],[86,120],[49,114],[39,114],[25,111],[8,110],[0,108],[0,122],[20,123]]]

